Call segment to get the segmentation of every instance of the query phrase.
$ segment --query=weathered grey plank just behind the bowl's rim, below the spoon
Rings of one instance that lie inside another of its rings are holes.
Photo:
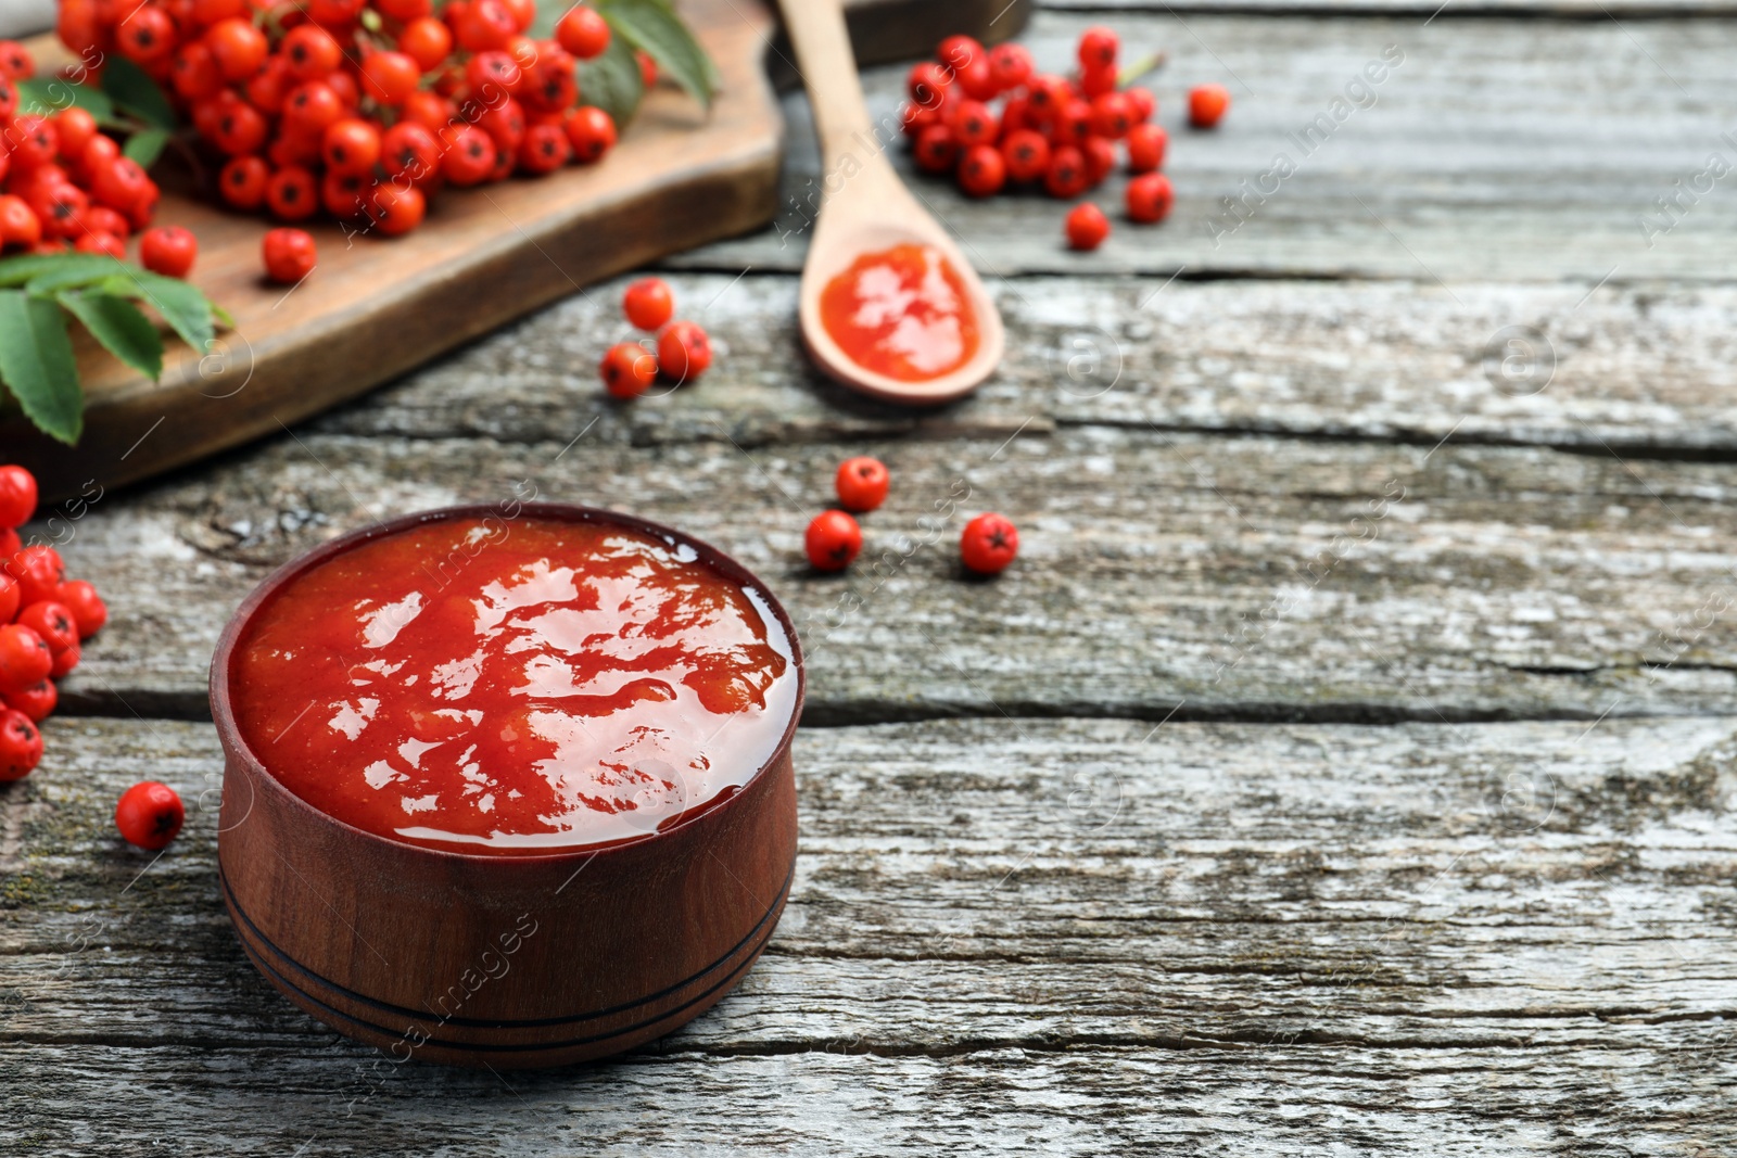
[[[703,387],[702,387],[703,389]],[[205,710],[205,665],[266,573],[401,510],[542,498],[676,523],[759,571],[809,649],[809,722],[955,714],[1593,719],[1737,707],[1727,470],[1536,448],[994,431],[639,450],[306,432],[63,526],[111,627],[75,710]],[[1020,434],[1013,438],[1013,434]],[[839,460],[893,498],[842,576],[801,563]],[[1021,561],[966,582],[999,509]]]

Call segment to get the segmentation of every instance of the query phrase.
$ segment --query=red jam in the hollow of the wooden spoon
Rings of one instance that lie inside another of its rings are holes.
[[[978,351],[964,280],[926,245],[858,257],[822,290],[820,321],[858,366],[902,382],[938,378]]]

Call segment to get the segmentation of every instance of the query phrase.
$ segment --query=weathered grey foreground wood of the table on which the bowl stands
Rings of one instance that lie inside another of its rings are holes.
[[[1734,719],[809,729],[797,882],[743,986],[637,1057],[504,1080],[377,1064],[254,974],[208,726],[50,741],[0,844],[33,1153],[1737,1142]],[[200,802],[156,863],[108,830],[141,762]]]

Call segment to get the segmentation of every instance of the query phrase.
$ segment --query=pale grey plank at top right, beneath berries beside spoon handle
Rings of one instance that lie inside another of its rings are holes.
[[[1025,40],[1042,68],[1063,71],[1079,31],[1098,19],[1040,12]],[[1607,276],[1718,281],[1737,264],[1730,177],[1697,177],[1709,155],[1737,170],[1737,144],[1721,137],[1737,123],[1737,95],[1723,83],[1737,24],[1171,12],[1117,14],[1113,23],[1129,59],[1155,49],[1171,57],[1152,78],[1159,120],[1171,132],[1169,220],[1124,222],[1115,212],[1122,184],[1113,179],[1094,200],[1112,208],[1115,233],[1096,253],[1079,255],[1063,245],[1065,208],[1056,201],[973,201],[948,181],[915,177],[914,188],[959,233],[981,273],[1167,278],[1181,269],[1193,278],[1589,286]],[[1381,83],[1360,80],[1388,45],[1398,45],[1403,63],[1377,68]],[[1218,132],[1192,132],[1183,125],[1185,94],[1207,80],[1226,83],[1235,104]],[[898,123],[902,83],[903,68],[867,76],[870,106],[889,127]],[[1353,92],[1364,108],[1344,97],[1357,83],[1365,85]],[[674,264],[801,267],[822,174],[806,106],[787,97],[785,115],[792,149],[775,229]],[[1317,116],[1329,118],[1327,128],[1303,141]],[[895,146],[895,155],[908,172],[905,149]],[[1291,175],[1275,163],[1280,155]],[[1692,194],[1662,215],[1655,200],[1676,196],[1678,179]],[[1226,210],[1225,198],[1245,196],[1237,214]]]

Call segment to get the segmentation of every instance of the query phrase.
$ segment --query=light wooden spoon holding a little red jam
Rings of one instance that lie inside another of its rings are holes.
[[[848,387],[893,403],[933,406],[969,394],[1001,363],[1006,335],[1001,313],[952,236],[893,172],[868,108],[839,0],[783,0],[783,23],[815,109],[825,179],[820,220],[802,266],[801,319],[809,356]],[[820,321],[820,295],[863,253],[895,245],[926,245],[959,273],[978,323],[976,354],[950,373],[924,382],[893,378],[851,361]]]

